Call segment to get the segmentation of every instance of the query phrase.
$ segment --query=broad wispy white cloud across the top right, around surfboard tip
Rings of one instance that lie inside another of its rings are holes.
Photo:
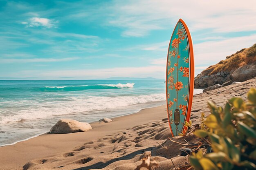
[[[234,0],[130,0],[114,1],[108,24],[124,29],[123,36],[140,37],[150,31],[168,29],[183,18],[193,31],[214,32],[256,30],[256,1]]]

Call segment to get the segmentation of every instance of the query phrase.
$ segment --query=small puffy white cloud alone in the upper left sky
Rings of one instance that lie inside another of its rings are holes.
[[[48,18],[33,17],[33,18],[30,18],[28,22],[21,22],[21,23],[26,24],[26,27],[42,26],[44,28],[52,28],[52,27],[56,27],[55,24],[57,23],[57,21],[50,20]]]

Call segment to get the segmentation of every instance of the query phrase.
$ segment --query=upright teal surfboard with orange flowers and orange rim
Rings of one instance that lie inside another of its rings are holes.
[[[172,136],[185,134],[194,90],[193,43],[188,26],[180,19],[173,31],[166,63],[166,102]]]

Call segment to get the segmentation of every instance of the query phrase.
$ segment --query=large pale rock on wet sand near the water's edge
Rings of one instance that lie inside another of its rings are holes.
[[[50,133],[85,132],[90,129],[92,129],[92,126],[86,122],[79,122],[72,119],[60,119],[52,126]]]

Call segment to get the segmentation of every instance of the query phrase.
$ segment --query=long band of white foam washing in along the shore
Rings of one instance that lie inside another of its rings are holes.
[[[71,101],[58,102],[33,102],[33,106],[24,109],[12,110],[12,114],[0,115],[0,123],[7,123],[20,120],[38,119],[54,115],[68,115],[74,112],[86,112],[92,110],[106,110],[117,107],[129,106],[133,104],[142,104],[148,102],[164,101],[166,95],[152,94],[124,97],[95,97],[79,96],[68,98]],[[29,102],[29,101],[27,101]],[[2,110],[4,111],[4,110]]]

